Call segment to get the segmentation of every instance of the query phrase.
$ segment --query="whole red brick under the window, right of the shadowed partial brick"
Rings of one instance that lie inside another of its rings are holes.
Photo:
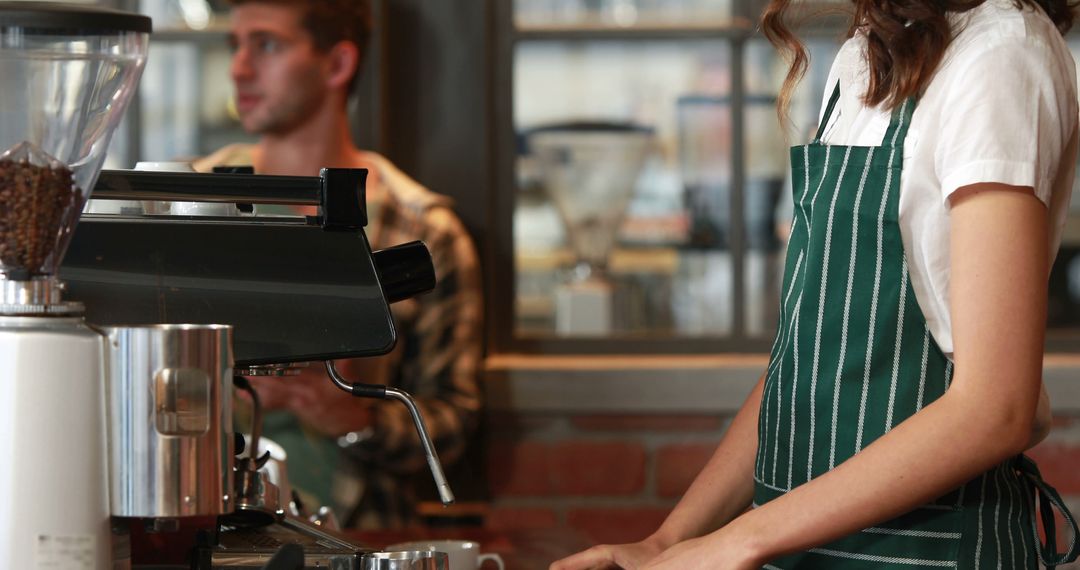
[[[645,448],[624,442],[567,442],[552,450],[556,494],[624,497],[645,489]]]

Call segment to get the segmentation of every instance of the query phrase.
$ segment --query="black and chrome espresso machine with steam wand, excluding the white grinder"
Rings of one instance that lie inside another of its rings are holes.
[[[365,178],[363,169],[334,168],[319,177],[105,171],[98,178],[95,200],[153,203],[156,212],[177,202],[237,206],[221,212],[318,208],[314,216],[83,216],[59,274],[108,335],[111,514],[133,568],[445,570],[442,553],[376,552],[291,504],[261,452],[258,397],[244,380],[288,381],[297,366],[325,363],[329,381],[354,396],[401,402],[442,501],[454,501],[411,396],[350,382],[333,365],[389,352],[396,338],[389,303],[434,286],[423,244],[372,252]],[[229,380],[255,403],[246,440],[231,432],[221,397]],[[143,564],[148,548],[165,557]],[[273,561],[288,556],[300,562]]]

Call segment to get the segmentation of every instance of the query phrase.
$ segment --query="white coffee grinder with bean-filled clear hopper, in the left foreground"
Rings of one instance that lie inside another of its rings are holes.
[[[0,568],[103,569],[105,339],[56,279],[150,19],[0,2]]]

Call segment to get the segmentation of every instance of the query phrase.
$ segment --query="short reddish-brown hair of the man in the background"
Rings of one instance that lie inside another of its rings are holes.
[[[300,11],[300,25],[315,49],[325,52],[339,41],[360,49],[361,63],[372,40],[372,3],[368,0],[228,0],[229,5],[278,4]],[[357,65],[357,73],[360,66]]]

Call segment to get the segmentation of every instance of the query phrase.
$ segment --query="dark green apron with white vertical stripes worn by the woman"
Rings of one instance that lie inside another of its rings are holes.
[[[948,389],[953,363],[916,302],[897,225],[903,142],[915,101],[892,113],[880,147],[814,140],[792,149],[795,216],[758,420],[754,504],[829,471]],[[1036,496],[1051,529],[1036,530]],[[1053,567],[1051,504],[1076,530],[1035,463],[1018,456],[932,503],[769,569]],[[1049,519],[1048,519],[1049,516]]]

